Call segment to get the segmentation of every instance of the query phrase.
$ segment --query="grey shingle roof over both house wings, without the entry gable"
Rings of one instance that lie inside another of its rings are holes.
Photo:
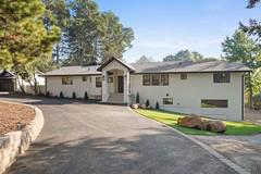
[[[239,62],[227,62],[223,60],[202,60],[202,61],[171,61],[171,62],[144,62],[127,64],[133,73],[207,73],[207,72],[250,72],[246,65]],[[108,64],[108,63],[107,63]],[[104,66],[104,65],[103,65]],[[102,67],[91,66],[63,66],[44,74],[44,76],[60,75],[100,75]]]

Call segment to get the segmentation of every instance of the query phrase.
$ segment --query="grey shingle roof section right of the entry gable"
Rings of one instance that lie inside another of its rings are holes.
[[[135,73],[200,73],[200,72],[248,72],[246,65],[239,62],[223,60],[171,61],[133,63]]]

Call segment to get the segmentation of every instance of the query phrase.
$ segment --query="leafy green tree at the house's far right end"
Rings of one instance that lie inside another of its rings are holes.
[[[252,108],[253,95],[260,88],[261,49],[257,41],[249,38],[243,30],[236,30],[232,37],[222,42],[224,59],[231,62],[240,61],[252,69],[253,73],[246,77],[246,90],[249,96],[249,105]]]

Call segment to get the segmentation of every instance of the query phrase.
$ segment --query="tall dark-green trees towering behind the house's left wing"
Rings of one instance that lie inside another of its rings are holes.
[[[132,47],[134,32],[124,27],[113,12],[100,12],[91,0],[74,0],[72,17],[66,29],[69,60],[66,64],[102,62]]]

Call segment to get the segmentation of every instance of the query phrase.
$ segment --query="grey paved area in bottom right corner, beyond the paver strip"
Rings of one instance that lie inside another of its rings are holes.
[[[249,173],[261,173],[261,134],[194,137],[209,145]]]

